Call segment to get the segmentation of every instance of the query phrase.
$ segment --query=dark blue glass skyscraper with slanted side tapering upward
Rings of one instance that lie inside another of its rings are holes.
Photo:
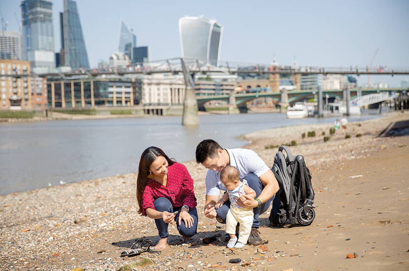
[[[73,0],[64,0],[63,39],[65,66],[90,68],[77,3]]]

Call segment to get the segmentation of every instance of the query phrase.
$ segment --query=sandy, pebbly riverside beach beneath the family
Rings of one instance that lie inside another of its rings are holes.
[[[136,238],[158,241],[154,221],[136,213],[136,173],[128,173],[0,196],[0,270],[110,271],[142,258],[153,263],[135,270],[409,270],[409,112],[349,123],[332,136],[331,127],[242,136],[269,167],[276,145],[296,141],[290,148],[304,155],[316,193],[310,226],[271,227],[270,210],[261,215],[267,251],[249,245],[231,251],[221,239],[202,242],[223,237],[224,225],[204,217],[206,169],[190,161],[183,164],[195,180],[199,213],[191,242],[182,243],[171,225],[170,245],[161,253],[120,257]],[[312,131],[316,136],[302,137]],[[324,136],[331,138],[324,142]],[[229,263],[233,258],[242,261]]]

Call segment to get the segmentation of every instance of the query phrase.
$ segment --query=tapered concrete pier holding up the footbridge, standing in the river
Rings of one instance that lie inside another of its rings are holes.
[[[183,59],[180,59],[180,62],[186,85],[185,100],[183,102],[182,125],[197,126],[200,124],[200,121],[198,115],[198,101],[196,100],[195,95],[195,84]]]

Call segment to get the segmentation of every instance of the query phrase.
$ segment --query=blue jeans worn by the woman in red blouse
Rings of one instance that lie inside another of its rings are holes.
[[[192,237],[196,234],[196,230],[198,228],[198,211],[196,210],[196,207],[194,207],[193,209],[189,210],[189,214],[193,217],[193,225],[192,228],[188,228],[185,226],[185,222],[183,221],[183,219],[180,221],[180,225],[177,225],[177,220],[179,218],[179,214],[180,214],[180,209],[182,207],[173,207],[172,203],[170,203],[170,201],[167,198],[158,198],[155,200],[155,202],[153,203],[155,206],[155,209],[159,212],[175,212],[175,211],[179,211],[176,215],[174,220],[176,221],[176,228],[177,231],[179,232],[179,234],[181,236],[184,237]],[[159,232],[159,236],[161,238],[166,238],[169,236],[168,234],[168,223],[165,223],[163,221],[163,218],[158,218],[155,219],[155,224],[156,227],[158,228],[158,232]]]

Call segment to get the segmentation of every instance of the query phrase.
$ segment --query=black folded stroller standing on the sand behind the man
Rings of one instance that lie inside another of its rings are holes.
[[[287,153],[285,157],[284,152]],[[302,155],[293,156],[287,146],[280,146],[272,167],[280,189],[275,194],[270,213],[273,226],[307,226],[315,218],[311,175]]]

